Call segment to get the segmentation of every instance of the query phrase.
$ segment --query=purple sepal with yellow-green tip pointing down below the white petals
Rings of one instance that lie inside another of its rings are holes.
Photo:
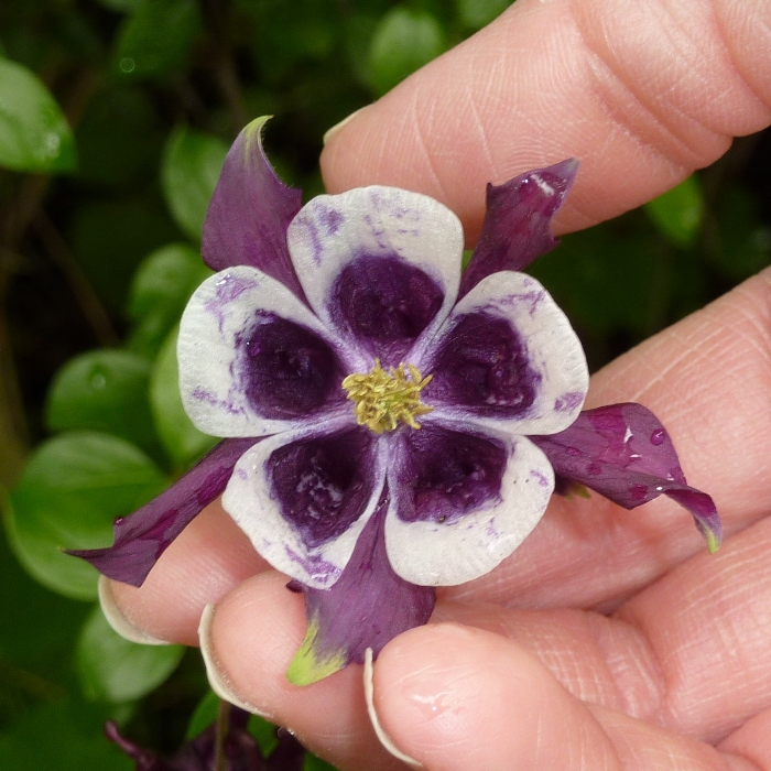
[[[394,637],[428,620],[434,589],[405,582],[389,564],[388,506],[383,495],[335,586],[302,587],[308,632],[287,672],[293,683],[306,685],[349,663],[361,664],[368,648],[377,655]]]

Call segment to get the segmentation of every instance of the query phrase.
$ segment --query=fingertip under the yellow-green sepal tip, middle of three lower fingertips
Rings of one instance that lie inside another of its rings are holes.
[[[308,686],[286,680],[305,636],[303,598],[286,588],[286,576],[269,571],[245,582],[217,606],[203,632],[202,648],[216,667],[214,677],[231,689],[231,701],[287,726],[340,771],[403,768],[374,737],[360,666]]]

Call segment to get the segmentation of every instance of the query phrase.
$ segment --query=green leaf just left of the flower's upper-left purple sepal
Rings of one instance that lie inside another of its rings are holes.
[[[221,139],[185,126],[177,127],[166,144],[161,164],[163,193],[177,225],[195,241],[200,240],[227,153]]]

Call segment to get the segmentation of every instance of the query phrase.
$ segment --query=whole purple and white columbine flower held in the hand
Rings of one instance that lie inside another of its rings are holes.
[[[637,404],[582,413],[586,361],[545,290],[517,272],[551,249],[566,161],[488,187],[468,269],[455,215],[367,187],[301,209],[260,143],[234,144],[204,227],[219,272],[182,319],[180,382],[204,432],[230,437],[84,553],[141,584],[225,491],[257,551],[305,594],[289,671],[310,683],[425,623],[433,587],[507,557],[571,480],[626,508],[665,493],[710,549],[715,507],[687,487],[658,420]]]

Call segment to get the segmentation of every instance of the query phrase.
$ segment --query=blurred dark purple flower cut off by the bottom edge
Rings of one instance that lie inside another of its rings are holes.
[[[227,759],[227,771],[301,771],[305,751],[294,737],[279,729],[278,747],[265,761],[260,746],[247,730],[249,713],[230,707],[228,734],[222,745]],[[123,738],[115,723],[105,725],[105,734],[135,763],[137,771],[211,771],[215,762],[215,726],[185,742],[176,754],[169,759],[159,758]]]

